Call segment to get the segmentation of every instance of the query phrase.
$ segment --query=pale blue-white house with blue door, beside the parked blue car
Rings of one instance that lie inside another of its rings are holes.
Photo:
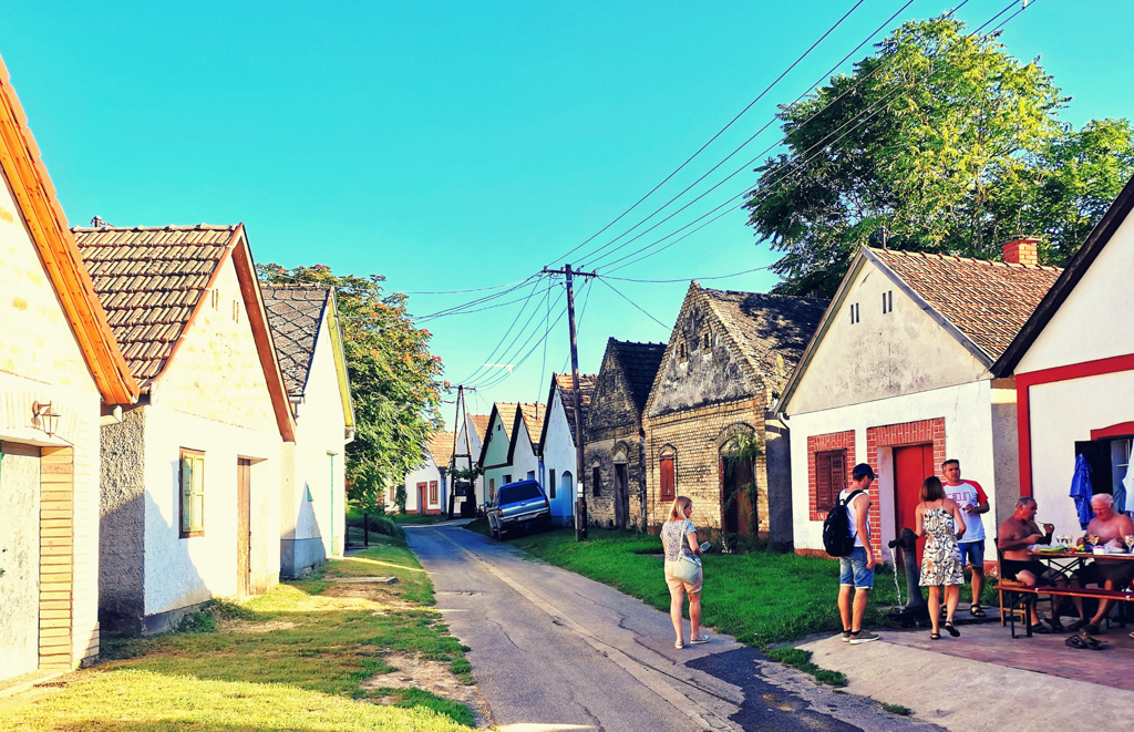
[[[581,374],[578,377],[584,429],[595,380],[593,374]],[[557,526],[574,526],[578,452],[575,441],[575,383],[570,374],[551,374],[539,454],[538,479],[551,503],[551,520]]]

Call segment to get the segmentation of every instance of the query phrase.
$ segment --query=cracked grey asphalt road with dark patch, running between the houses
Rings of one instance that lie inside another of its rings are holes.
[[[457,526],[406,534],[503,732],[938,729],[726,636],[678,650],[667,614],[507,544]]]

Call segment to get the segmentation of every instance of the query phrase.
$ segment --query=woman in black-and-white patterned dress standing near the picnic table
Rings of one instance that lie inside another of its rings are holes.
[[[957,612],[960,586],[965,584],[964,564],[960,563],[960,547],[957,539],[965,533],[965,520],[954,501],[945,497],[941,479],[925,478],[917,504],[917,536],[925,537],[922,552],[921,586],[929,587],[929,618],[933,624],[930,638],[941,637],[941,588],[945,587],[945,629],[956,638],[960,632],[953,625],[953,614]]]

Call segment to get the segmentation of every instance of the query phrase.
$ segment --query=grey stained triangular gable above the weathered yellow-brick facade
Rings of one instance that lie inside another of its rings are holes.
[[[705,326],[712,329],[709,351],[701,348]],[[678,355],[682,338],[687,347],[685,361]],[[762,390],[762,385],[752,383],[741,359],[728,348],[720,322],[696,292],[682,305],[660,372],[646,407],[650,417],[745,399]]]

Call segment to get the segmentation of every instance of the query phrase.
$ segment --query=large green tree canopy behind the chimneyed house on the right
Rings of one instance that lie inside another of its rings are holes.
[[[776,291],[830,296],[858,247],[995,259],[1039,235],[1064,264],[1134,175],[1134,129],[1058,119],[1039,59],[942,16],[902,25],[849,75],[780,107],[786,152],[756,169],[750,224],[784,256]]]

